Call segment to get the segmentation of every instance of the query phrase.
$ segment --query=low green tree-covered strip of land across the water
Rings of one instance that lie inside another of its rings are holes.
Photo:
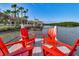
[[[48,23],[46,26],[63,26],[63,27],[77,27],[79,22],[59,22],[59,23]]]

